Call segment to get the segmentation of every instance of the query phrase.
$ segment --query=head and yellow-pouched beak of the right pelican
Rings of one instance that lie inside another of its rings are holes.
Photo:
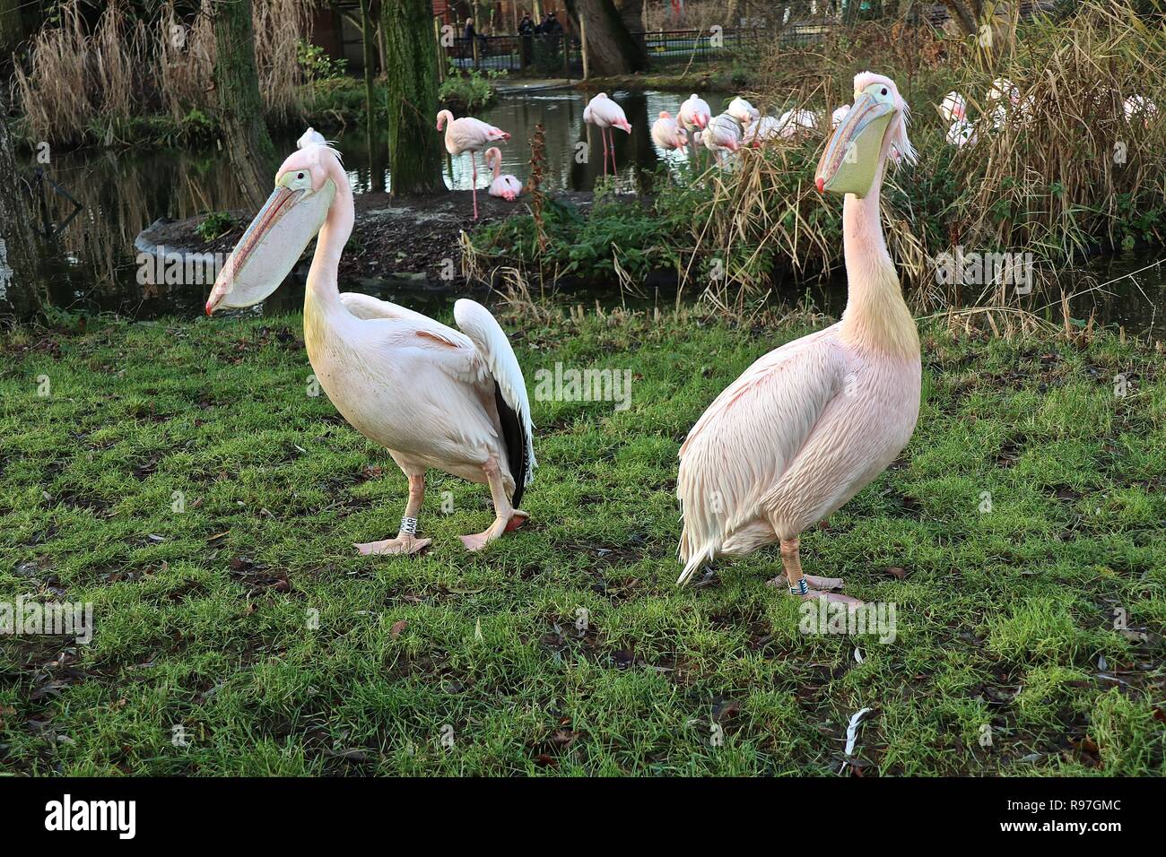
[[[881,184],[888,156],[914,162],[907,140],[906,101],[888,77],[864,71],[855,77],[855,103],[826,146],[814,175],[819,192],[862,198]],[[892,154],[893,153],[893,154]]]

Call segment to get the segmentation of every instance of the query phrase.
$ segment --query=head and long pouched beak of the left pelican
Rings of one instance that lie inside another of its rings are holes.
[[[296,146],[216,278],[206,315],[219,307],[252,307],[275,291],[328,219],[337,187],[347,188],[339,153],[319,133],[308,128]]]

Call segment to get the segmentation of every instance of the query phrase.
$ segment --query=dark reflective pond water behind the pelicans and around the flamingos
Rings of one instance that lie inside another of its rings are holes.
[[[624,107],[633,128],[631,135],[613,133],[618,185],[626,191],[646,190],[648,176],[661,160],[683,157],[656,150],[651,140],[649,117],[654,119],[661,110],[675,113],[686,96],[667,92],[609,94]],[[728,96],[704,97],[716,110]],[[585,104],[586,96],[573,90],[534,91],[507,94],[478,115],[512,134],[511,140],[499,147],[504,171],[526,180],[531,157],[527,142],[535,125],[541,124],[547,155],[546,187],[588,190],[603,174],[603,160],[577,157],[582,142],[589,143],[588,150],[600,152],[597,132],[583,122]],[[276,140],[278,150],[292,152],[297,135]],[[384,150],[384,140],[371,140],[363,128],[336,136],[344,153],[349,181],[357,194],[391,188],[386,164],[380,157],[374,162],[370,156],[370,153]],[[480,189],[489,181],[480,160],[478,166]],[[245,208],[223,153],[215,149],[80,149],[55,154],[49,176],[84,205],[52,243],[47,280],[54,305],[72,311],[113,311],[138,318],[194,316],[202,311],[205,288],[155,291],[139,282],[134,239],[160,217],[184,219],[206,211]],[[447,160],[445,183],[469,190],[468,157]],[[63,197],[50,195],[50,215],[55,222],[62,220],[71,208]],[[1074,298],[1073,315],[1082,318],[1095,311],[1102,323],[1161,336],[1166,322],[1166,265],[1156,264],[1158,260],[1166,262],[1166,251],[1122,254],[1091,264],[1080,276],[1073,278],[1070,291],[1091,289]],[[361,281],[342,283],[342,288],[400,301],[426,311],[451,301],[449,295],[434,293],[431,288],[419,289],[412,281]],[[845,301],[845,286],[838,281],[792,287],[791,293],[808,296],[831,314],[840,312]],[[672,298],[670,294],[653,294],[646,300],[658,296],[663,302]],[[597,286],[585,298],[588,302],[595,298],[620,301],[618,291],[607,285]],[[272,310],[290,310],[302,305],[302,281],[293,281],[276,291],[266,305]],[[1060,318],[1059,307],[1053,316]]]

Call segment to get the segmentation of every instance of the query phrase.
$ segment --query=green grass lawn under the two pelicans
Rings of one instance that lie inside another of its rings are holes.
[[[868,775],[1166,772],[1160,356],[925,328],[909,447],[802,539],[897,605],[880,645],[801,634],[772,549],[673,585],[680,441],[803,328],[532,318],[505,319],[532,388],[630,368],[631,408],[535,402],[529,525],[466,554],[487,493],[431,473],[403,559],[351,548],[405,479],[308,395],[298,316],[8,335],[0,600],[91,602],[96,633],[0,637],[0,771],[830,774],[871,707]]]

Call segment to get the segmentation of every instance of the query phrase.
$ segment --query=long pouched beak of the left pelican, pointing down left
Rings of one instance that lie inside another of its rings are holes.
[[[275,291],[324,225],[335,195],[331,180],[316,191],[290,189],[281,180],[216,278],[206,315],[219,307],[252,307]]]

